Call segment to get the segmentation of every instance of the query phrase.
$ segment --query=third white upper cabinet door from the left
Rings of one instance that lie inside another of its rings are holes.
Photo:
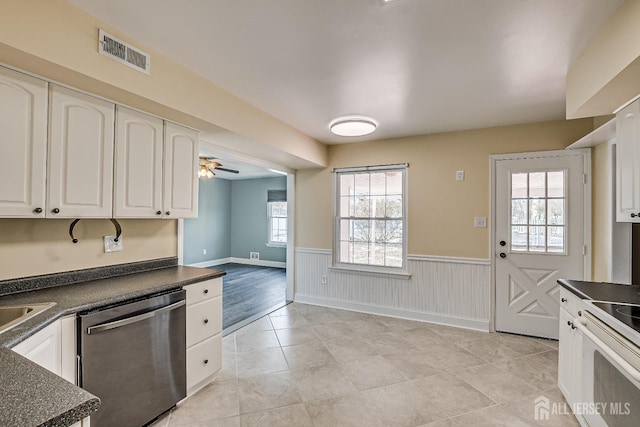
[[[161,217],[162,126],[162,119],[117,107],[115,217]]]

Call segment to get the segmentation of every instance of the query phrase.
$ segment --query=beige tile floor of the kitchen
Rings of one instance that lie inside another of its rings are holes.
[[[223,339],[217,379],[154,427],[577,426],[555,341],[290,304]]]

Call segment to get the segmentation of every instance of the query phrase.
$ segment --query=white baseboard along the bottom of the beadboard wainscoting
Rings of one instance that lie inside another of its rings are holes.
[[[360,313],[377,314],[380,316],[397,317],[399,319],[417,320],[420,322],[436,323],[439,325],[455,326],[458,328],[473,329],[481,332],[489,332],[489,321],[470,319],[466,317],[447,316],[442,314],[423,313],[417,311],[400,310],[396,308],[382,307],[371,304],[359,304],[349,301],[340,301],[329,298],[318,298],[296,294],[294,302],[319,305],[322,307],[340,308],[343,310],[357,311]]]

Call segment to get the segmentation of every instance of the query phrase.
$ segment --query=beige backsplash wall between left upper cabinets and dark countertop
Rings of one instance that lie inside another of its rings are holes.
[[[123,251],[105,254],[106,219],[80,221],[73,244],[72,220],[0,219],[0,280],[177,256],[176,220],[120,220]]]

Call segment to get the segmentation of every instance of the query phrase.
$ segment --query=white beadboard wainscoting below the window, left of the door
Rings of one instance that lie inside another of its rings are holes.
[[[488,259],[410,255],[406,280],[330,269],[326,249],[296,248],[295,256],[294,301],[489,331]]]

